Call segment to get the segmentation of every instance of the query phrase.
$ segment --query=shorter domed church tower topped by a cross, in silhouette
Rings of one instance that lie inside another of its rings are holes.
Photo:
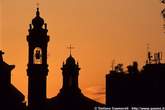
[[[71,54],[71,46],[70,48],[70,56],[66,59],[66,63],[63,63],[61,68],[63,75],[63,86],[60,90],[63,95],[71,95],[71,94],[81,94],[81,90],[78,84],[78,76],[79,76],[79,64],[72,57]]]

